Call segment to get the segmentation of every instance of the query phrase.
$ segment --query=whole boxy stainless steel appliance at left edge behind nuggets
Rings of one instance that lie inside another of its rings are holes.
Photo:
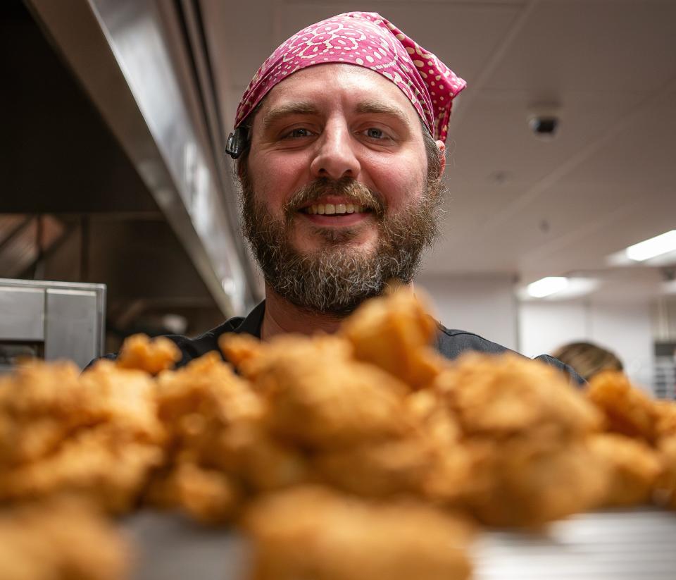
[[[103,284],[0,278],[0,340],[44,343],[45,360],[101,356],[105,315]]]

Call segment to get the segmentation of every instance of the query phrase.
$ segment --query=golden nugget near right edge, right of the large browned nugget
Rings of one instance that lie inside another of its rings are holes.
[[[597,460],[608,464],[605,506],[637,505],[649,502],[653,487],[663,471],[658,453],[641,440],[615,433],[599,433],[589,439]]]

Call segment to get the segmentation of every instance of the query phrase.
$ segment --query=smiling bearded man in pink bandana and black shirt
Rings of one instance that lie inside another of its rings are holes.
[[[180,364],[218,350],[225,332],[332,332],[387,283],[410,285],[437,236],[444,140],[464,88],[376,13],[328,18],[278,47],[244,92],[227,144],[265,302],[199,338],[170,337]],[[437,347],[449,358],[506,351],[441,325]]]

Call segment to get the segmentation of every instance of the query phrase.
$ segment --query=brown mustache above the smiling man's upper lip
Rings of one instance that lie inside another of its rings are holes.
[[[372,190],[351,177],[338,180],[318,178],[294,192],[287,203],[284,204],[284,214],[287,218],[291,218],[299,209],[318,202],[327,195],[344,197],[351,204],[370,209],[377,217],[384,216],[385,209],[387,209],[380,192]]]

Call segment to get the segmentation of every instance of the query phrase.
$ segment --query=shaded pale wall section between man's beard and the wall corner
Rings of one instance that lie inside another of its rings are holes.
[[[517,349],[512,276],[420,276],[415,288],[423,288],[432,297],[434,311],[446,328],[470,331]]]

